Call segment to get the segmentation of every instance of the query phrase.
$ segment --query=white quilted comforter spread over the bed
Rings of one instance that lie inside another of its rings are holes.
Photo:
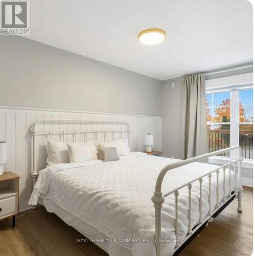
[[[55,204],[77,218],[94,226],[109,238],[129,249],[134,256],[156,255],[154,242],[140,239],[154,238],[154,207],[151,197],[161,168],[179,160],[130,153],[119,161],[92,160],[81,164],[59,164],[40,171],[29,204],[35,205],[38,196],[51,199]],[[163,182],[167,192],[189,180],[217,168],[205,163],[192,163],[171,170]],[[226,194],[229,192],[226,170]],[[223,170],[219,174],[219,198],[223,198]],[[237,177],[237,186],[240,181]],[[231,190],[234,173],[231,172]],[[216,174],[212,177],[212,206],[216,205]],[[179,242],[188,232],[188,188],[179,190],[178,197]],[[163,255],[171,255],[175,247],[174,196],[166,198],[162,214],[162,237],[171,239],[164,243]],[[208,178],[202,190],[202,216],[208,213]],[[199,183],[192,187],[192,226],[199,220]],[[121,239],[121,240],[120,240]],[[131,239],[126,242],[123,239]],[[115,256],[115,255],[114,255]]]

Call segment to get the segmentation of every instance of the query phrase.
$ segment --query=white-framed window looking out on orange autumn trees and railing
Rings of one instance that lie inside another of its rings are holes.
[[[253,90],[206,94],[209,152],[239,143],[242,156],[253,159]],[[221,156],[229,156],[229,152]]]

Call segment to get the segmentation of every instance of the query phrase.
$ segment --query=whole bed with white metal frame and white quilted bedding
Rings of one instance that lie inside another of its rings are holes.
[[[46,132],[36,130],[39,121],[32,130],[33,159],[36,136]],[[120,133],[130,136],[126,125]],[[118,161],[34,169],[29,204],[41,203],[110,256],[178,254],[235,197],[241,211],[241,158],[223,166],[199,162],[238,149],[184,161],[130,152]]]

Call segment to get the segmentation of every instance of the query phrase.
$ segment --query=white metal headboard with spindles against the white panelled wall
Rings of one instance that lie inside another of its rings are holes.
[[[125,129],[121,126],[121,129],[91,129],[91,130],[71,130],[71,131],[64,131],[64,130],[58,130],[54,131],[52,130],[38,130],[38,124],[39,123],[45,123],[45,122],[57,122],[57,123],[86,123],[86,124],[122,124],[125,125]],[[100,121],[100,120],[74,120],[74,119],[48,119],[48,118],[41,118],[38,119],[34,122],[32,126],[32,135],[33,135],[33,144],[32,144],[32,177],[33,177],[33,185],[36,182],[36,178],[38,175],[38,170],[36,169],[36,136],[38,135],[45,135],[48,134],[50,138],[52,138],[52,135],[54,134],[59,134],[59,141],[63,141],[64,135],[71,134],[73,135],[73,142],[76,142],[77,139],[77,134],[84,134],[84,142],[87,141],[87,134],[94,134],[95,140],[98,139],[98,134],[103,134],[104,141],[106,141],[107,134],[111,133],[113,140],[115,138],[115,134],[119,133],[121,135],[121,138],[124,133],[127,133],[128,135],[128,141],[130,145],[130,132],[131,130],[129,129],[129,123],[125,121]]]

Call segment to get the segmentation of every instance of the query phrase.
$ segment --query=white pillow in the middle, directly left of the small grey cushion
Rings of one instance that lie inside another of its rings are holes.
[[[97,147],[94,141],[67,144],[70,163],[81,163],[98,159]]]

